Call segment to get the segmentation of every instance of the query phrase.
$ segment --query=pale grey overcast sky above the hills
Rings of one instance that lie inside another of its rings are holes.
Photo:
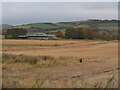
[[[117,2],[4,2],[4,24],[117,19]]]

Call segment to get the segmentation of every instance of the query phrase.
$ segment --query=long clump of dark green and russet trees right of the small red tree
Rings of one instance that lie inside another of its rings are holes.
[[[69,27],[65,30],[66,39],[102,39],[115,40],[118,36],[107,32],[96,32],[91,28],[73,28]]]

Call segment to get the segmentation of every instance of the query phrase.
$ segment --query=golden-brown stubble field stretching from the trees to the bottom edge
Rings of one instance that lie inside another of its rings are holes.
[[[118,42],[3,40],[3,87],[118,87]]]

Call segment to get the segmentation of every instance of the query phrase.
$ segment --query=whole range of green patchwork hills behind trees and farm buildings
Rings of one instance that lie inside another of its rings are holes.
[[[58,22],[58,23],[29,23],[22,24],[17,26],[11,26],[8,24],[3,24],[3,32],[5,32],[8,28],[25,28],[29,33],[33,32],[56,32],[57,30],[64,30],[67,27],[97,27],[98,30],[103,31],[113,31],[118,30],[118,20],[96,20],[89,19],[85,21],[71,21],[71,22]]]

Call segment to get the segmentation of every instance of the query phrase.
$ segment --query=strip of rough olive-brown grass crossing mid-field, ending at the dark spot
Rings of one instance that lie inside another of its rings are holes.
[[[83,59],[78,57],[53,57],[53,56],[28,56],[28,55],[14,55],[3,54],[3,63],[28,63],[38,67],[50,67],[57,65],[68,65],[82,63]]]

